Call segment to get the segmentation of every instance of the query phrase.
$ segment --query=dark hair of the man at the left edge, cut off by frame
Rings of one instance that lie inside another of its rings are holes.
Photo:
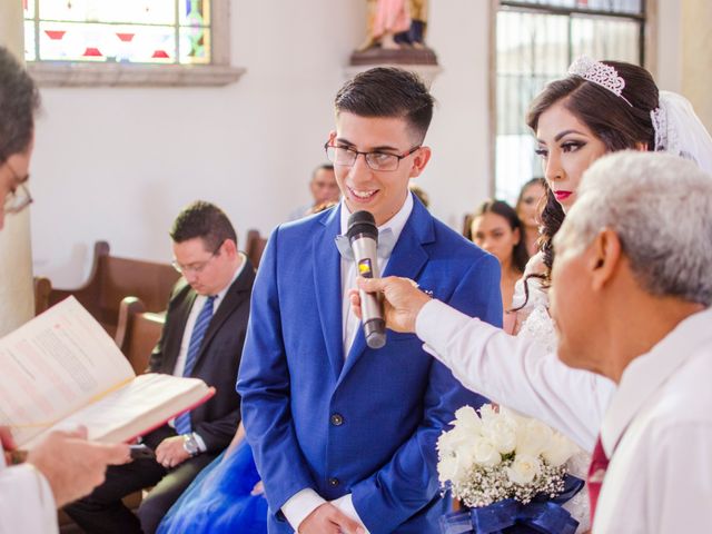
[[[34,81],[12,52],[0,47],[0,164],[29,148],[39,107]]]

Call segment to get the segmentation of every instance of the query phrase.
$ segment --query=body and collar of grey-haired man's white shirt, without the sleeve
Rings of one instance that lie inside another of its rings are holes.
[[[601,428],[596,534],[712,531],[712,310],[625,368]]]

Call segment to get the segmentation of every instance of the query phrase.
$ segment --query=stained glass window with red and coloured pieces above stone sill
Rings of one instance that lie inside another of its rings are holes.
[[[211,62],[210,0],[22,0],[28,61]]]

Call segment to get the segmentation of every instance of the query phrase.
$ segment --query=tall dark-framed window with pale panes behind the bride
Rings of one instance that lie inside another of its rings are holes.
[[[531,101],[574,58],[642,65],[643,0],[501,0],[496,13],[495,196],[516,200],[542,175],[525,123]]]

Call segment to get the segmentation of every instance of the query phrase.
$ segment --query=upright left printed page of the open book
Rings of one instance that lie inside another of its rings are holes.
[[[75,297],[0,339],[0,425],[20,446],[135,376]]]

